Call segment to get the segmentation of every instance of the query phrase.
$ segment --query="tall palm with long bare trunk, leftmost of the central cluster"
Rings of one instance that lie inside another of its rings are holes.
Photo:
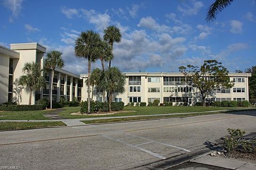
[[[90,113],[90,84],[91,84],[91,62],[97,61],[102,53],[102,43],[99,33],[91,30],[81,32],[75,41],[75,54],[77,57],[87,58],[88,60],[88,113]]]

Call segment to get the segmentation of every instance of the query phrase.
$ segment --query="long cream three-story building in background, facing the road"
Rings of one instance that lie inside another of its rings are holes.
[[[172,102],[174,105],[185,102],[192,105],[202,101],[199,91],[191,86],[191,82],[183,81],[185,77],[182,73],[127,72],[124,74],[126,90],[123,94],[114,94],[113,101],[123,101],[125,105],[131,102],[148,104],[155,99],[160,100],[160,103]],[[235,86],[231,89],[213,90],[212,95],[207,96],[206,102],[249,100],[248,78],[251,77],[251,73],[229,73],[229,76]],[[81,78],[85,80],[87,74],[81,74]],[[86,89],[85,84],[84,87]],[[87,100],[87,90],[82,90],[82,100]],[[102,92],[98,92],[97,87],[93,89],[93,100],[103,100]]]

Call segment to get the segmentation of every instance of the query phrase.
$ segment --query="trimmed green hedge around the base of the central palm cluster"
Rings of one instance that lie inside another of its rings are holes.
[[[101,102],[99,103],[98,101],[91,101],[91,113],[95,112],[108,112],[109,111],[109,103],[108,102]],[[88,103],[87,101],[82,101],[81,104],[81,113],[87,113],[88,112]],[[122,111],[124,109],[124,103],[121,102],[111,102],[111,110],[112,111]]]

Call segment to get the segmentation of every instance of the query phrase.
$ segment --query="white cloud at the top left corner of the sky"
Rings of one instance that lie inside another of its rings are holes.
[[[13,18],[18,17],[22,9],[23,0],[3,0],[4,7],[12,12],[9,21],[12,22]]]

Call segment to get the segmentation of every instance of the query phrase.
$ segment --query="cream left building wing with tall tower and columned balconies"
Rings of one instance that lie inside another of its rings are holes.
[[[22,67],[26,62],[36,62],[44,67],[44,54],[46,48],[38,43],[11,44],[10,49],[0,46],[0,104],[6,101],[15,101],[19,104],[28,104],[29,94],[26,87],[18,84],[22,73]],[[55,69],[53,78],[53,89],[51,70],[45,68],[44,73],[47,85],[41,91],[36,91],[31,104],[36,104],[38,99],[49,98],[50,90],[53,93],[53,101],[58,102],[60,97],[72,101],[74,97],[81,100],[83,83],[79,75],[62,69]]]

